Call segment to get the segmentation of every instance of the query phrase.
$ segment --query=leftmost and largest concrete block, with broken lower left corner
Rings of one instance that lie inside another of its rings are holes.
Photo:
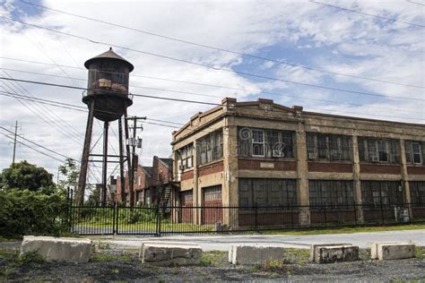
[[[89,262],[91,240],[53,236],[24,236],[21,254],[36,252],[47,262]]]

